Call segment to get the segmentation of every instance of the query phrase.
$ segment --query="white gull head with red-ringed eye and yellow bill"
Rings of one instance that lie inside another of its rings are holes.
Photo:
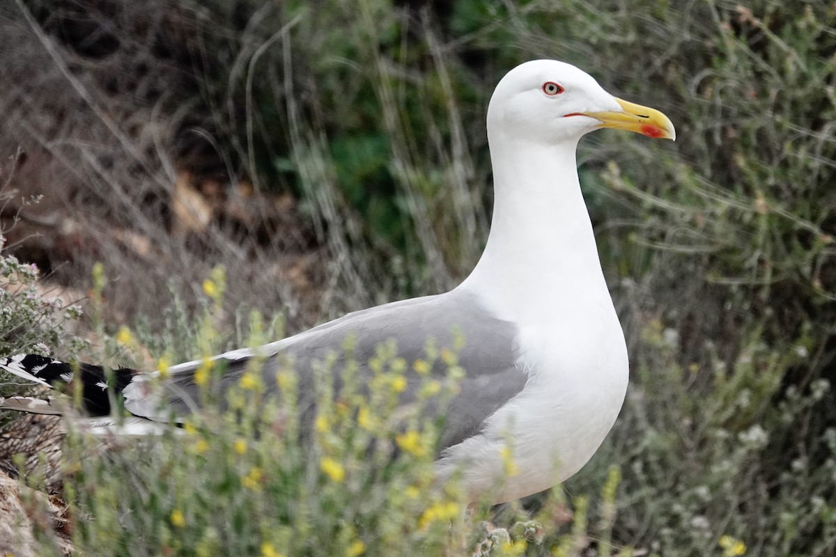
[[[488,134],[547,144],[577,142],[594,129],[624,129],[676,139],[659,110],[617,99],[572,64],[533,60],[508,72],[487,109]]]

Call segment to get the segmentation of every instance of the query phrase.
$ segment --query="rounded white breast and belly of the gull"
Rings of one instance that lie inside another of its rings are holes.
[[[491,499],[498,503],[549,489],[589,461],[619,414],[628,380],[624,334],[605,303],[609,309],[594,311],[595,322],[586,316],[584,327],[562,319],[521,330],[517,365],[529,373],[526,387],[480,435],[445,451],[436,463],[442,477],[461,469],[469,493],[497,493]]]

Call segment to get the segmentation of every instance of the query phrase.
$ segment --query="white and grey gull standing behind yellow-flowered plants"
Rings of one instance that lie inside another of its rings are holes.
[[[473,502],[487,497],[492,504],[571,477],[612,428],[629,370],[575,161],[579,139],[600,128],[675,139],[665,114],[615,98],[573,65],[535,60],[513,68],[487,110],[494,207],[485,250],[470,276],[442,294],[355,311],[263,347],[212,357],[225,366],[222,383],[237,384],[258,357],[263,383],[278,392],[279,362],[292,357],[299,397],[313,397],[315,362],[344,353],[349,336],[356,362],[369,373],[383,342],[394,340],[398,355],[414,362],[426,357],[428,339],[451,346],[458,330],[465,339],[458,365],[466,375],[444,409],[437,477],[460,473]],[[200,366],[181,363],[164,377],[118,369],[115,392],[137,419],[177,421],[199,411]],[[111,411],[102,367],[32,354],[3,358],[0,367],[45,387],[70,382],[79,372],[89,413]],[[444,377],[446,367],[435,365],[430,373]],[[415,399],[410,391],[420,382],[414,374],[407,372],[404,400]],[[22,397],[7,398],[0,408],[60,413],[51,400]],[[509,443],[512,474],[506,473]]]

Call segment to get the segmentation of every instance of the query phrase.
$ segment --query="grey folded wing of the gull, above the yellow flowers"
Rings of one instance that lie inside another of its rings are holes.
[[[368,362],[382,342],[393,340],[398,355],[411,363],[426,358],[428,339],[433,339],[436,347],[452,347],[456,331],[461,332],[464,338],[459,365],[465,369],[466,376],[461,383],[461,392],[444,411],[441,450],[479,433],[485,419],[522,391],[528,380],[528,374],[514,365],[517,327],[494,316],[472,292],[454,290],[355,311],[262,347],[260,357],[265,358],[264,385],[268,390],[277,390],[276,371],[282,362],[293,362],[293,369],[298,375],[303,423],[309,423],[315,413],[315,362],[334,357],[333,369],[339,374],[345,352],[344,342],[349,336],[354,339],[354,360],[360,365],[362,380],[363,377],[370,377]],[[218,357],[227,365],[222,383],[227,386],[235,384],[253,356],[252,351],[240,350]],[[177,416],[191,413],[199,407],[200,397],[193,380],[197,365],[199,362],[188,362],[171,368],[173,377],[166,387],[168,402]],[[431,374],[443,375],[446,371],[446,366],[436,363]],[[403,403],[414,400],[421,385],[421,377],[411,367],[406,372],[406,378],[407,389],[401,398]],[[169,414],[161,416],[152,408],[159,406],[159,397],[140,394],[138,387],[141,383],[140,379],[125,389],[125,408],[146,418],[167,418]]]

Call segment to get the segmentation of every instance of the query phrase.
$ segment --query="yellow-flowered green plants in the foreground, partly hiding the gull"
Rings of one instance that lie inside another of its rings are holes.
[[[205,315],[192,346],[213,352],[222,296],[222,271],[204,285]],[[268,340],[260,316],[250,318],[247,345]],[[116,339],[130,350],[141,335]],[[535,514],[512,504],[497,525],[490,509],[466,512],[456,479],[436,481],[432,463],[441,423],[426,418],[427,405],[449,401],[461,368],[455,347],[426,347],[427,360],[405,362],[394,343],[381,345],[361,381],[344,344],[346,360],[334,381],[336,354],[314,367],[315,415],[298,406],[298,376],[283,362],[274,377],[252,362],[227,393],[227,409],[213,406],[212,382],[222,373],[208,363],[196,374],[204,412],[161,436],[120,438],[99,452],[101,440],[72,428],[64,453],[65,495],[74,517],[73,543],[84,554],[130,555],[575,555],[588,536],[609,540],[620,481],[610,468],[600,524],[588,524],[589,499],[571,504],[556,489]],[[446,377],[429,374],[433,360]],[[167,373],[161,357],[161,376]],[[206,359],[206,362],[209,362]],[[407,377],[421,381],[417,399],[399,404]],[[265,381],[279,394],[266,397]],[[213,409],[214,408],[214,409]],[[513,468],[509,453],[509,470]],[[509,473],[513,473],[512,471]],[[91,517],[86,519],[84,517]],[[53,540],[44,534],[43,552]],[[609,548],[609,542],[604,545]],[[603,548],[604,546],[602,546]],[[607,554],[602,549],[602,554]]]

